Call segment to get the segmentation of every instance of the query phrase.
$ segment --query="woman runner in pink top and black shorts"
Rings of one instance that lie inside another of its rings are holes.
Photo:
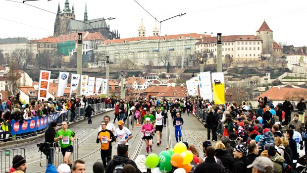
[[[142,126],[142,132],[144,133],[143,139],[146,142],[146,152],[147,152],[147,156],[149,154],[149,148],[151,148],[151,152],[153,152],[153,131],[154,131],[154,127],[153,124],[150,123],[151,118],[147,117],[145,118],[146,123]]]

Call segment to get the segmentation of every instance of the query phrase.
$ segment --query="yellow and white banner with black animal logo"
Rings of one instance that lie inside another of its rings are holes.
[[[225,105],[225,83],[223,72],[212,73],[212,88],[214,103],[216,105]]]

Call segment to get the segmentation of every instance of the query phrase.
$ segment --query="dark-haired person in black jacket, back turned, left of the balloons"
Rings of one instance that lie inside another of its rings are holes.
[[[121,173],[125,165],[130,164],[136,168],[137,173],[141,173],[133,160],[128,158],[128,149],[125,144],[117,146],[117,155],[110,160],[105,167],[105,173]]]

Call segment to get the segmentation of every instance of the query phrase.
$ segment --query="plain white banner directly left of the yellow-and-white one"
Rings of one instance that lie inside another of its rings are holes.
[[[211,78],[210,71],[201,72],[198,74],[199,77],[199,85],[200,85],[200,93],[204,100],[212,101],[212,86],[211,86]]]

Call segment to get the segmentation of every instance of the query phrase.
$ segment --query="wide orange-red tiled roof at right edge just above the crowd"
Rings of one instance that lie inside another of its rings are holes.
[[[258,100],[259,97],[270,97],[271,100],[285,100],[286,97],[294,98],[295,100],[299,100],[301,98],[306,97],[307,89],[305,88],[278,88],[272,87],[269,90],[262,93],[260,96],[254,98],[254,100]]]

